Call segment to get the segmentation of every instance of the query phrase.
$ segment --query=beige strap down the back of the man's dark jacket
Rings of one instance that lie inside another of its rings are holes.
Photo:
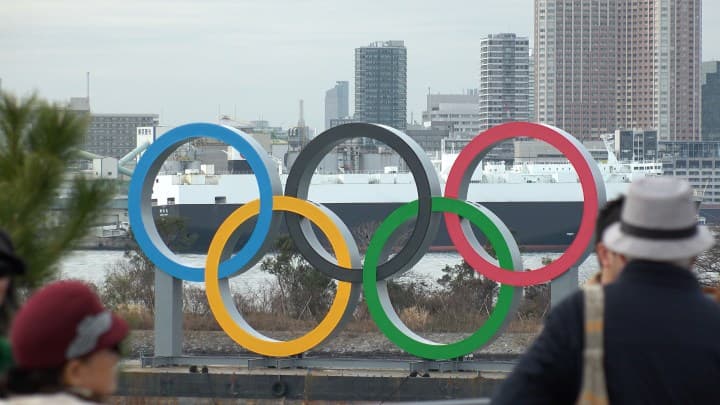
[[[609,403],[605,384],[603,330],[605,300],[601,285],[583,287],[585,300],[585,348],[583,350],[582,391],[578,404]]]

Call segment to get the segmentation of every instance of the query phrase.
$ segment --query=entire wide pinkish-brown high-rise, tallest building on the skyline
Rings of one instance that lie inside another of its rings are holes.
[[[701,0],[535,0],[535,113],[580,139],[700,139]]]

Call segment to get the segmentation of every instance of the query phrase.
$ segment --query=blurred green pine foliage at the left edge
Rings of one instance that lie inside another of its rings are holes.
[[[27,263],[20,287],[52,279],[112,199],[111,181],[68,174],[87,123],[87,116],[35,96],[0,96],[0,227]]]

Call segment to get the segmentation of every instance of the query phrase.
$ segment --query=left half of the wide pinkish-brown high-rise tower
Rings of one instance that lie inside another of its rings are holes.
[[[535,117],[580,139],[615,130],[617,0],[535,0]]]

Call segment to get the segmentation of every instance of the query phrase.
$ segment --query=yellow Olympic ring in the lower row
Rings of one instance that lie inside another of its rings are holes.
[[[302,215],[315,224],[330,241],[330,245],[337,257],[338,265],[344,268],[352,268],[350,263],[350,251],[342,233],[337,225],[317,206],[306,200],[294,197],[275,196],[273,197],[273,210],[292,212]],[[260,212],[260,201],[248,202],[236,209],[220,225],[208,249],[208,256],[205,262],[205,293],[207,294],[210,309],[215,315],[220,327],[239,345],[244,348],[265,356],[285,357],[306,352],[322,343],[330,334],[335,331],[345,314],[350,303],[352,283],[339,281],[335,299],[333,300],[327,315],[310,332],[293,340],[278,341],[264,336],[248,325],[237,311],[228,311],[228,306],[223,301],[223,293],[220,288],[218,267],[223,250],[233,232],[245,221]],[[224,279],[227,283],[227,279]],[[229,289],[225,289],[226,295]],[[225,297],[228,298],[228,297]],[[232,303],[229,297],[228,304]],[[244,327],[238,323],[243,323]],[[248,330],[249,329],[249,330]]]

